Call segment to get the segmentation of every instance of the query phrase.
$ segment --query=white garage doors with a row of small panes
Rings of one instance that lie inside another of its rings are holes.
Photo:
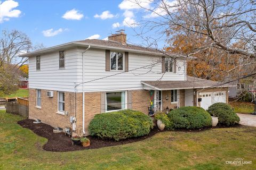
[[[226,103],[226,91],[204,92],[199,97],[202,98],[200,106],[205,110],[214,103]]]

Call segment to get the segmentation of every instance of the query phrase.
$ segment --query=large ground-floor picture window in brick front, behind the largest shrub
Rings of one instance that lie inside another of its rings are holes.
[[[116,111],[126,108],[126,92],[106,92],[106,111]]]

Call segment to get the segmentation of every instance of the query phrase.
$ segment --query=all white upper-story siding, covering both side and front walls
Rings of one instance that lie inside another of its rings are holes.
[[[36,56],[29,57],[29,88],[74,92],[75,83],[83,82],[82,52],[85,49],[65,49],[65,69],[59,69],[59,51],[41,55],[39,72],[36,71]],[[163,75],[161,62],[149,67],[161,61],[161,58],[129,52],[129,70],[132,71],[117,74],[119,72],[106,71],[105,49],[90,48],[84,53],[85,92],[140,90],[143,89],[141,81],[186,80],[185,61],[182,58],[177,59],[176,73]],[[146,67],[138,69],[143,66]],[[76,92],[82,92],[82,84],[76,87]]]

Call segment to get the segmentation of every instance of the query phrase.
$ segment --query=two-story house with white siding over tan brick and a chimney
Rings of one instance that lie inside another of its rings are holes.
[[[185,57],[126,44],[124,32],[22,56],[29,57],[29,118],[85,135],[99,113],[228,103],[227,84],[188,77]]]

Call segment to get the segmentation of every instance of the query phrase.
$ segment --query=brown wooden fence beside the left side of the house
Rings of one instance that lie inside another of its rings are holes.
[[[21,115],[28,118],[28,98],[17,98],[17,101],[9,101],[6,104],[6,112]]]

